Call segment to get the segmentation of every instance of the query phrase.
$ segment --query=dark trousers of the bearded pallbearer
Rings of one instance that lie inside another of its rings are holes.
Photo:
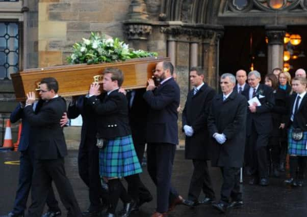
[[[178,193],[171,186],[175,151],[174,144],[147,144],[147,170],[157,186],[157,212],[167,212],[169,203],[178,197]]]

